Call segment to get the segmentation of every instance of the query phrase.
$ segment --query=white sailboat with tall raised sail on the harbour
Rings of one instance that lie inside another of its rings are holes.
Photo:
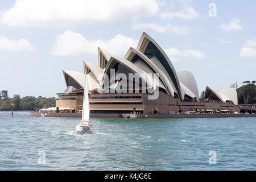
[[[76,125],[77,131],[82,131],[82,132],[92,131],[92,122],[89,121],[89,117],[90,117],[90,106],[89,106],[87,80],[86,80],[86,73],[85,73],[84,101],[82,104],[82,120],[79,121],[78,125]]]

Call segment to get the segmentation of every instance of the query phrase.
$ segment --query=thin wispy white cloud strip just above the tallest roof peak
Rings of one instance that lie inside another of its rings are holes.
[[[133,24],[133,29],[136,30],[141,30],[141,29],[146,29],[150,28],[152,30],[158,31],[158,32],[175,32],[177,35],[184,35],[188,34],[190,31],[190,27],[186,26],[177,26],[177,25],[172,25],[171,23],[168,23],[166,25],[161,25],[161,24],[155,24],[155,23],[135,23]]]

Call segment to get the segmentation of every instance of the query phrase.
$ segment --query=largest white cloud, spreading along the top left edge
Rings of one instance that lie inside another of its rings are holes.
[[[9,26],[67,27],[158,14],[156,0],[17,0],[0,21]]]

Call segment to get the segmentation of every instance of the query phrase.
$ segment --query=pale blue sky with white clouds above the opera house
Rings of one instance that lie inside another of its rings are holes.
[[[98,65],[97,47],[124,57],[143,32],[199,92],[256,80],[256,2],[189,0],[0,1],[0,90],[57,97],[62,70]]]

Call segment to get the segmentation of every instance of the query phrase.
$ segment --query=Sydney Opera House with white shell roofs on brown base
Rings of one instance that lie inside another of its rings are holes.
[[[113,70],[114,76],[122,73],[129,79],[129,74],[133,73],[139,79],[129,80],[126,89],[122,89],[126,92],[120,93],[118,89],[122,88],[122,79],[109,82]],[[157,73],[158,81],[152,77],[146,78],[145,73]],[[82,110],[85,74],[90,113],[168,114],[204,109],[240,111],[235,88],[217,91],[207,86],[205,101],[199,102],[199,90],[193,74],[188,71],[176,72],[163,49],[144,32],[137,48],[131,47],[124,58],[115,57],[99,47],[98,65],[84,61],[82,72],[63,71],[63,74],[67,89],[57,93],[56,107],[69,107],[74,113]],[[135,84],[139,87],[135,88]],[[146,90],[142,85],[146,85]],[[150,99],[154,92],[158,97]]]

